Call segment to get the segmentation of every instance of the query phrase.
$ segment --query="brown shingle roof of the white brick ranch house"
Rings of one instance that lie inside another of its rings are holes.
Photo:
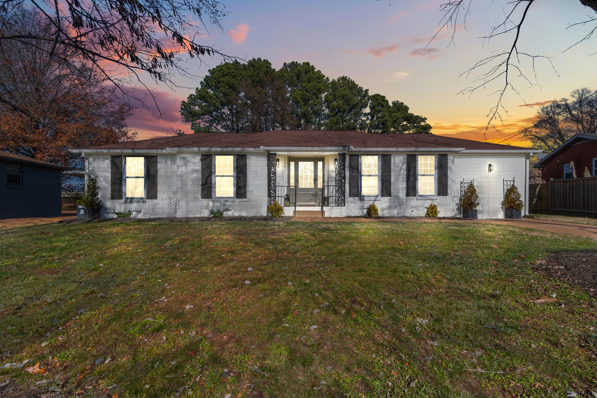
[[[275,130],[254,133],[205,132],[87,149],[338,147],[354,148],[466,148],[475,150],[528,149],[432,134],[369,134],[361,131]]]

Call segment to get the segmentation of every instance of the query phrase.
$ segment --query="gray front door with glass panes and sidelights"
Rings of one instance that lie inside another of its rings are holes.
[[[321,191],[323,183],[323,163],[319,159],[290,160],[290,183],[297,187],[297,205],[317,205],[321,202],[321,192],[318,191]]]

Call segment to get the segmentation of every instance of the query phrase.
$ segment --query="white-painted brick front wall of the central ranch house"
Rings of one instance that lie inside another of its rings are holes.
[[[278,185],[287,185],[288,156],[277,155]],[[265,215],[267,213],[267,155],[247,153],[247,199],[201,199],[201,154],[179,153],[158,156],[158,199],[127,203],[110,199],[110,156],[88,155],[89,165],[99,179],[101,217],[114,217],[114,211],[133,211],[134,217],[204,217],[210,209],[223,209],[226,215]],[[335,184],[334,159],[325,156],[327,184]],[[525,200],[526,155],[448,155],[448,196],[416,198],[406,196],[406,154],[392,155],[392,197],[362,200],[348,197],[349,172],[346,169],[346,207],[325,208],[328,217],[364,215],[370,203],[376,203],[383,216],[421,216],[429,203],[438,205],[441,216],[459,216],[460,181],[475,180],[479,194],[479,218],[503,218],[503,179],[516,178],[516,186]],[[346,157],[348,164],[348,156]],[[488,172],[488,164],[494,166]],[[286,214],[286,213],[285,213]],[[290,215],[290,214],[288,214]]]

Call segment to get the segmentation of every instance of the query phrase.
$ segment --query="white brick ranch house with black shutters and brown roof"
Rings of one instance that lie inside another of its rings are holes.
[[[323,211],[359,216],[375,203],[381,216],[460,216],[463,186],[474,181],[479,218],[503,218],[501,200],[516,184],[528,209],[523,147],[429,134],[360,131],[199,133],[73,149],[99,180],[101,217],[266,215]],[[297,213],[297,215],[300,213]]]

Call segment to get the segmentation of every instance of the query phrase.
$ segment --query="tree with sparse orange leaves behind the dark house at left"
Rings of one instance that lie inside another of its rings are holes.
[[[13,22],[20,31],[51,32],[45,18],[19,12]],[[76,51],[35,39],[2,47],[0,150],[82,168],[82,159],[69,148],[136,137],[126,124],[133,106]]]

